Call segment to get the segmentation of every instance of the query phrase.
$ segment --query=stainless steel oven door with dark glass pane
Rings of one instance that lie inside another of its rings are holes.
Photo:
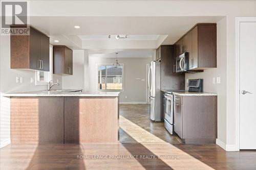
[[[164,118],[167,122],[173,125],[173,95],[165,95],[165,109],[164,109]]]

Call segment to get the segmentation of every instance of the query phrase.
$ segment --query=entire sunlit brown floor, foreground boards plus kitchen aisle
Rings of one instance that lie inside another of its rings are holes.
[[[120,107],[123,140],[131,143],[9,144],[0,149],[0,169],[256,169],[256,151],[225,152],[216,144],[169,143],[176,139],[161,135],[161,124],[138,123],[132,113],[136,109],[143,112],[147,106]]]

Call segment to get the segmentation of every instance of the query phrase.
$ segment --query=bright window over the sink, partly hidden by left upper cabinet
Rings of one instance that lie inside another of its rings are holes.
[[[50,80],[52,80],[52,54],[53,54],[53,48],[52,45],[50,45],[50,70],[49,71],[35,71],[35,85],[47,85]]]

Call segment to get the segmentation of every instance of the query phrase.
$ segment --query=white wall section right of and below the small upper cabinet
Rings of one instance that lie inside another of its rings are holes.
[[[83,89],[83,50],[73,50],[73,75],[62,75],[63,89]]]

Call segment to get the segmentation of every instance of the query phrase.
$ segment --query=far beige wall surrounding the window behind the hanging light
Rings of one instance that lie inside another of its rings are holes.
[[[115,58],[89,57],[90,90],[96,90],[96,65],[113,62]],[[119,58],[118,62],[124,64],[124,90],[119,96],[120,103],[146,103],[146,64],[151,62],[151,58]]]

